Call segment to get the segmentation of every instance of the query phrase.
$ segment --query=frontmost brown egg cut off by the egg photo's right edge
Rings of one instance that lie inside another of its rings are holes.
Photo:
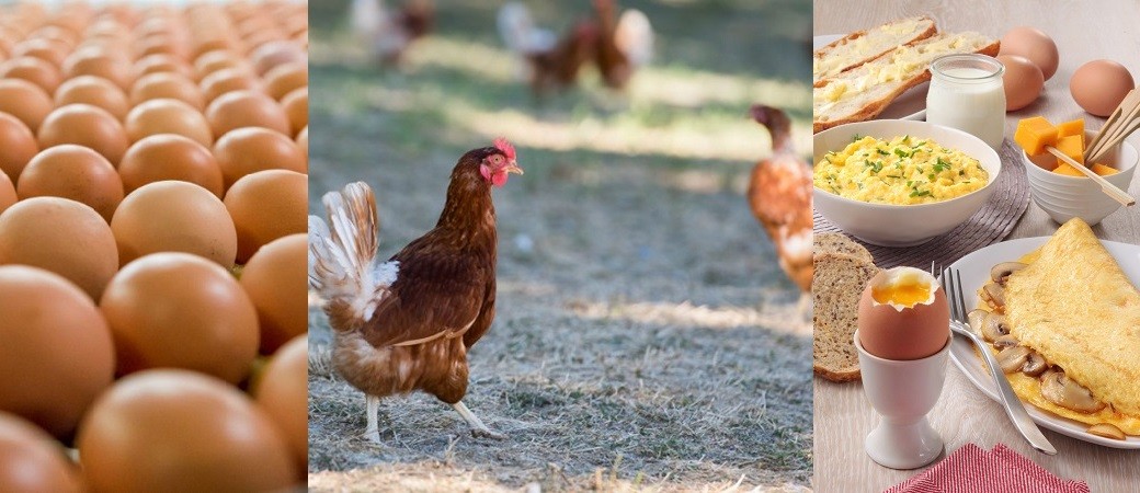
[[[272,419],[288,443],[293,463],[304,479],[309,459],[309,342],[298,336],[274,354],[256,388],[258,406]]]

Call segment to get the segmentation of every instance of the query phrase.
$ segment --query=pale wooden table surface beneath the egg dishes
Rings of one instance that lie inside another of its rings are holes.
[[[849,1],[815,0],[814,33],[841,34],[872,27],[890,19],[929,15],[946,31],[978,31],[1001,38],[1021,25],[1037,27],[1053,38],[1060,51],[1060,67],[1045,82],[1042,97],[1029,107],[1009,113],[1005,135],[1012,137],[1017,121],[1043,115],[1060,122],[1084,117],[1089,129],[1104,118],[1084,113],[1073,101],[1068,80],[1082,64],[1098,58],[1119,61],[1140,81],[1140,2],[1036,0],[944,0],[944,1]],[[1140,147],[1140,132],[1129,139]],[[1140,197],[1140,179],[1129,190]],[[1010,238],[1049,236],[1058,224],[1036,204],[1018,222]],[[1140,245],[1140,206],[1117,211],[1093,228],[1098,237]],[[930,422],[953,452],[967,443],[983,449],[1004,443],[1054,475],[1082,479],[1093,492],[1140,491],[1140,451],[1107,449],[1043,430],[1057,447],[1057,455],[1034,451],[1009,422],[1001,405],[986,397],[947,363],[942,397],[930,413]],[[832,384],[815,379],[815,491],[878,492],[917,475],[881,467],[863,451],[863,439],[878,417],[860,384]]]

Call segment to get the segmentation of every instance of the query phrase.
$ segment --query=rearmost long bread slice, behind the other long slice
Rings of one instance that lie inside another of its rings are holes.
[[[812,54],[812,82],[839,75],[897,47],[930,38],[936,32],[934,19],[927,16],[907,17],[855,31]]]

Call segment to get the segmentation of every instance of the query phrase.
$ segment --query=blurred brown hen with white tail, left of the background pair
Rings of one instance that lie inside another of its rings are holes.
[[[551,31],[536,26],[530,11],[519,2],[499,9],[498,28],[507,48],[523,59],[523,77],[530,80],[538,97],[573,85],[597,42],[593,22],[579,20],[562,39],[555,39]]]

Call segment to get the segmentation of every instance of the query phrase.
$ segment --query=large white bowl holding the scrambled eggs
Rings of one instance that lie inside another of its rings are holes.
[[[823,155],[842,150],[855,134],[878,139],[901,135],[934,139],[942,146],[961,150],[978,159],[990,174],[986,186],[961,197],[933,204],[886,205],[870,204],[840,197],[815,188],[815,208],[828,221],[869,244],[890,247],[919,245],[950,232],[966,222],[990,200],[994,181],[1001,172],[1001,158],[982,139],[961,130],[910,120],[877,120],[848,123],[815,134],[814,163]]]

